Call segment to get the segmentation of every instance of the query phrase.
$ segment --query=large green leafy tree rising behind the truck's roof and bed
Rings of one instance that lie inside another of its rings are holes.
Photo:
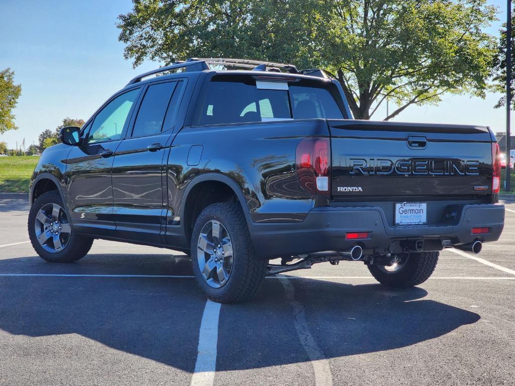
[[[386,98],[389,119],[443,93],[483,97],[495,50],[487,0],[134,0],[118,19],[134,66],[225,56],[322,67],[360,119]]]

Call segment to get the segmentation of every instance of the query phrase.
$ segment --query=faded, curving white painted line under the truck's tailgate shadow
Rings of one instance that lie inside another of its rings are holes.
[[[333,377],[331,375],[329,361],[325,359],[313,335],[311,335],[310,327],[306,322],[304,306],[295,299],[294,286],[288,279],[281,277],[281,284],[284,287],[286,300],[293,308],[294,324],[300,343],[313,364],[313,369],[315,370],[315,386],[331,386],[333,384]]]

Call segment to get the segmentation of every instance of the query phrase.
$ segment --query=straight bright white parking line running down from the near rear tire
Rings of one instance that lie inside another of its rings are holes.
[[[210,300],[205,303],[198,337],[197,362],[195,363],[191,386],[212,386],[215,382],[220,306],[220,303]]]

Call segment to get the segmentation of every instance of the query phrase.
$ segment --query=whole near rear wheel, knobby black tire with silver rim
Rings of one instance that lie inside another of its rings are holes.
[[[202,210],[193,229],[191,257],[197,283],[218,303],[249,300],[260,288],[268,264],[255,256],[245,215],[236,202]]]

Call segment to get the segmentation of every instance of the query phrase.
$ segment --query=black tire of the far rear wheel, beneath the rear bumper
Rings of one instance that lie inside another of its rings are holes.
[[[387,272],[381,266],[369,265],[375,279],[387,287],[414,287],[427,280],[435,270],[439,252],[410,253],[401,269]]]

